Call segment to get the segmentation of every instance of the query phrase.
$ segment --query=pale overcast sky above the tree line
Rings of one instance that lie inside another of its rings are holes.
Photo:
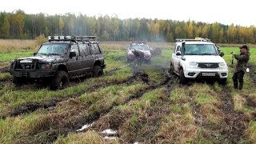
[[[0,11],[24,10],[26,14],[86,14],[118,18],[158,18],[178,21],[220,22],[240,26],[256,26],[253,0],[6,0]]]

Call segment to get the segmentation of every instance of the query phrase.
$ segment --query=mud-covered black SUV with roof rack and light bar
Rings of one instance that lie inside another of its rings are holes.
[[[49,82],[50,90],[65,88],[70,78],[103,74],[104,57],[95,36],[50,36],[34,57],[10,62],[14,84]]]

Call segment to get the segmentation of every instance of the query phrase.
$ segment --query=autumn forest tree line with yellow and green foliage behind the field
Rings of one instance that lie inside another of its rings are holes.
[[[216,43],[256,43],[255,26],[70,13],[25,14],[22,10],[0,13],[0,38],[30,39],[42,34],[97,35],[103,41],[174,42],[176,38],[201,37]]]

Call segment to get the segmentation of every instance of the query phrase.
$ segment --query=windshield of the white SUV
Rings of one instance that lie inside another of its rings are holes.
[[[185,44],[185,55],[218,55],[213,44]]]

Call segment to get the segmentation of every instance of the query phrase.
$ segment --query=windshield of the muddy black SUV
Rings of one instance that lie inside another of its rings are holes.
[[[43,44],[38,50],[37,55],[64,55],[67,52],[67,43],[47,43]]]

